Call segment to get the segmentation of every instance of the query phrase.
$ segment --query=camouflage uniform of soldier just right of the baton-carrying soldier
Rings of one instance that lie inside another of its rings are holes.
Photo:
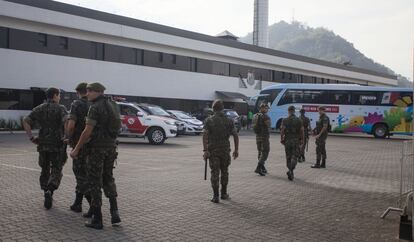
[[[265,113],[258,113],[254,118],[255,125],[260,127],[260,132],[256,134],[256,145],[259,160],[258,165],[261,168],[264,168],[270,151],[269,127],[266,125],[266,121],[268,120],[270,121],[270,117]]]

